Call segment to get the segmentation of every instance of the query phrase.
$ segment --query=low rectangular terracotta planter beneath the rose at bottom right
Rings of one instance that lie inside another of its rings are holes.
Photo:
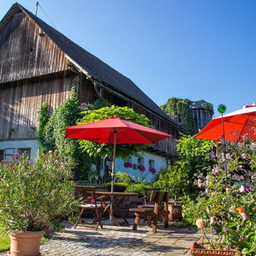
[[[202,244],[194,242],[191,245],[190,253],[194,256],[211,256],[211,255],[221,255],[221,256],[241,256],[241,252],[236,250],[216,250],[216,249],[206,249]]]

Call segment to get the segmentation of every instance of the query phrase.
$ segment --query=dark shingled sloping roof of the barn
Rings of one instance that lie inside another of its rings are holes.
[[[68,57],[74,60],[92,77],[109,84],[118,92],[124,93],[124,95],[134,99],[145,108],[150,109],[152,112],[161,116],[165,120],[172,122],[172,124],[182,129],[179,124],[172,120],[170,116],[166,115],[166,113],[164,113],[164,111],[159,108],[159,106],[157,106],[153,100],[151,100],[145,93],[143,93],[140,88],[138,88],[138,86],[136,86],[136,84],[131,81],[131,79],[123,76],[114,68],[109,67],[109,65],[95,57],[90,52],[85,51],[82,47],[72,42],[65,35],[49,26],[47,23],[36,17],[33,13],[29,12],[20,4],[13,4],[10,10],[6,13],[3,20],[0,22],[0,31],[3,29],[6,22],[8,22],[10,16],[12,16],[19,9],[26,13],[31,19],[33,19],[36,24],[38,24],[38,26],[45,32],[45,34],[49,36],[49,38],[51,38],[51,40],[56,45],[58,45],[58,47],[60,47],[61,51],[65,52]]]

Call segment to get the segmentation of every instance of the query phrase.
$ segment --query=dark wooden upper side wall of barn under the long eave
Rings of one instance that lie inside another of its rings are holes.
[[[115,104],[117,106],[128,106],[129,108],[134,109],[134,111],[136,111],[137,113],[147,116],[147,118],[150,120],[150,125],[152,125],[154,129],[157,129],[162,132],[166,132],[168,134],[172,134],[173,138],[159,141],[159,143],[155,145],[155,148],[163,152],[172,154],[174,156],[178,155],[177,148],[176,148],[176,145],[177,145],[176,140],[179,139],[179,132],[180,132],[178,128],[176,128],[174,125],[170,124],[169,122],[163,120],[162,118],[159,118],[158,116],[150,113],[144,108],[141,108],[137,104],[132,103],[131,101],[120,99],[119,97],[106,91],[104,91],[103,97],[104,99],[108,100],[108,102],[110,102],[111,104]]]

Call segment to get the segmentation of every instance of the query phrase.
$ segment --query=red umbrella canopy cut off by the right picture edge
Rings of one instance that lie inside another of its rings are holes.
[[[256,104],[246,105],[243,108],[223,116],[225,140],[243,141],[243,136],[256,140]],[[214,118],[202,131],[196,134],[195,139],[220,141],[223,138],[222,118]]]

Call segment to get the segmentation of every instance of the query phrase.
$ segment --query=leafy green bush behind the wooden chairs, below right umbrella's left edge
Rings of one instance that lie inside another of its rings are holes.
[[[154,187],[170,191],[172,198],[196,194],[194,173],[202,172],[206,166],[213,164],[211,153],[216,150],[214,142],[196,140],[191,135],[183,134],[177,142],[179,159],[172,166],[161,170],[154,183]]]

